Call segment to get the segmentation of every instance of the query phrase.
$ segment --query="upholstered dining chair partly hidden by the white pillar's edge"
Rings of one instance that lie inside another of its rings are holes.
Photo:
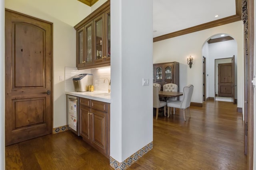
[[[156,108],[156,120],[158,119],[158,109],[164,107],[164,115],[166,116],[166,102],[159,100],[159,88],[153,86],[153,107]]]

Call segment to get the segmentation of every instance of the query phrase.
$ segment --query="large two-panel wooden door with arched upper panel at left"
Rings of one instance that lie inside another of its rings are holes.
[[[51,134],[52,23],[5,11],[5,74],[6,145]]]

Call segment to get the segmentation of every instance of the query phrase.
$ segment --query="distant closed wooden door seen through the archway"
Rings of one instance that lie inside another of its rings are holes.
[[[232,64],[218,64],[218,96],[232,97]]]

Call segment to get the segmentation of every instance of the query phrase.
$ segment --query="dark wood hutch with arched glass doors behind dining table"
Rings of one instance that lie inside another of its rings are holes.
[[[180,85],[180,63],[158,63],[153,64],[153,82],[161,84],[163,90],[164,84],[174,83]]]

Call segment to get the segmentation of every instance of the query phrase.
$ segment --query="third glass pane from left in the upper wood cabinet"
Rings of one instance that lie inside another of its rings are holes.
[[[103,42],[103,18],[100,16],[94,21],[95,30],[95,61],[102,60]]]

